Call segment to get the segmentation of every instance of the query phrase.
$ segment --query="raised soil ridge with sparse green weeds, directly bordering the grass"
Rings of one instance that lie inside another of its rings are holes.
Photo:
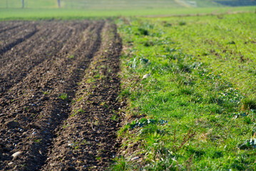
[[[118,122],[111,114],[118,109],[121,39],[113,24],[106,24],[102,39],[42,170],[104,170],[116,155]]]

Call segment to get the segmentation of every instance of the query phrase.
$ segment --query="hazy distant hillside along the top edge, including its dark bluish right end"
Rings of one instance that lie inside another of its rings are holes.
[[[256,0],[61,0],[61,8],[173,9],[181,7],[246,6]],[[24,0],[25,8],[58,8],[57,0]],[[1,0],[0,8],[21,8],[21,0]]]

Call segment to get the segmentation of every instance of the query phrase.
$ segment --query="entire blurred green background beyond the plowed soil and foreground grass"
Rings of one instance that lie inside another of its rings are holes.
[[[256,1],[249,2],[256,4]],[[24,0],[24,9],[22,9],[21,0],[2,0],[0,1],[0,19],[85,19],[108,16],[172,16],[255,11],[255,6],[243,6],[245,1],[230,0],[230,3],[240,3],[241,6],[222,5],[212,0],[62,0],[58,8],[57,0]]]

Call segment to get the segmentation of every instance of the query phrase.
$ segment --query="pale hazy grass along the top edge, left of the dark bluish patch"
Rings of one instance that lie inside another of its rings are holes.
[[[24,0],[25,8],[45,9],[58,8],[56,0]],[[196,0],[198,6],[217,6],[211,0]],[[186,3],[185,3],[186,4]],[[174,8],[177,6],[186,6],[177,0],[61,0],[61,8],[76,8],[76,9],[127,9],[127,8],[155,8],[168,7]],[[0,8],[21,8],[21,1],[3,0],[0,1]]]

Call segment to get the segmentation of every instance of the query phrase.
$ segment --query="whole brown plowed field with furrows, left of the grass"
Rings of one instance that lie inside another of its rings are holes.
[[[121,38],[111,21],[0,22],[0,170],[105,170]]]

